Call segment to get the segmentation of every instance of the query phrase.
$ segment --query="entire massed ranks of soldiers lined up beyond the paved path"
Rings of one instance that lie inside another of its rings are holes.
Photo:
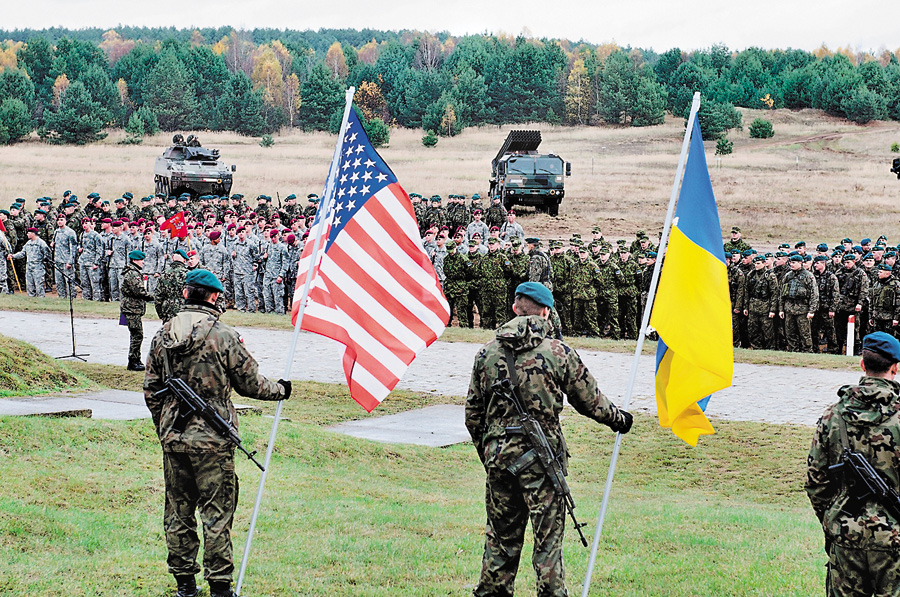
[[[554,296],[553,323],[566,335],[634,339],[650,290],[656,245],[639,230],[633,241],[607,241],[600,227],[590,239],[566,241],[525,236],[514,211],[498,197],[483,205],[451,195],[410,195],[423,246],[431,257],[461,327],[496,328],[512,317],[510,305],[522,282],[541,282]],[[97,193],[84,207],[66,191],[62,201],[42,197],[29,212],[22,199],[0,209],[9,245],[0,243],[0,292],[17,288],[43,296],[120,299],[130,251],[146,255],[142,273],[157,295],[161,317],[180,308],[187,271],[208,269],[225,285],[223,306],[239,311],[290,311],[297,262],[319,198],[295,195],[273,206],[266,195],[251,208],[231,197],[165,197],[136,200],[124,193],[110,203]],[[187,237],[161,228],[183,212]],[[729,261],[735,346],[842,353],[854,318],[854,352],[870,331],[896,334],[900,320],[897,247],[885,237],[855,244],[844,239],[807,250],[785,243],[759,253],[737,227],[724,244]],[[477,318],[476,318],[477,314]]]

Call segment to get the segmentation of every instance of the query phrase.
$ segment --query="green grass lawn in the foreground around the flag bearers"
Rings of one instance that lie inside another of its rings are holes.
[[[102,383],[120,368],[73,365]],[[118,378],[137,389],[138,375]],[[244,584],[250,595],[468,595],[480,570],[484,473],[469,444],[377,444],[321,425],[366,416],[345,388],[285,403]],[[271,403],[247,401],[271,412]],[[375,416],[461,399],[392,394]],[[271,420],[244,417],[264,449]],[[811,430],[716,421],[692,449],[638,416],[622,446],[592,594],[821,593],[821,531],[802,489]],[[567,409],[570,484],[593,529],[613,434]],[[259,474],[243,488],[235,557]],[[0,594],[171,595],[159,445],[149,421],[0,417]],[[566,541],[578,594],[588,551]],[[590,533],[589,533],[590,535]],[[518,590],[534,594],[530,539]]]

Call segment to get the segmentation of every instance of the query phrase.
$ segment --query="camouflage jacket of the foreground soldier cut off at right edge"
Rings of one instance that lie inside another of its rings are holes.
[[[852,499],[840,475],[828,470],[843,450],[843,419],[851,450],[860,452],[894,491],[900,490],[900,383],[863,377],[838,390],[825,409],[807,460],[806,493],[825,536],[855,549],[900,549],[900,521],[875,500]]]

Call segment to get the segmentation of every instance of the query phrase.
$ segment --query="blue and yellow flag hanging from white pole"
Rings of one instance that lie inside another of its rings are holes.
[[[728,269],[696,116],[650,324],[659,333],[659,424],[696,446],[714,433],[703,414],[709,395],[734,372]]]

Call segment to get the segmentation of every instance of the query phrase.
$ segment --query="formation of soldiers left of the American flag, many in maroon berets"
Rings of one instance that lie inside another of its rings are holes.
[[[285,313],[290,309],[302,241],[319,199],[307,205],[288,195],[273,208],[260,195],[251,209],[240,194],[231,197],[165,197],[135,201],[124,193],[112,204],[97,193],[82,207],[69,191],[54,206],[41,197],[30,212],[16,200],[0,209],[8,244],[0,242],[0,292],[26,290],[44,296],[55,287],[60,297],[119,301],[123,271],[131,251],[146,256],[142,274],[147,290],[157,295],[161,317],[180,306],[180,288],[190,269],[213,272],[226,286],[222,304],[240,311]],[[140,205],[138,206],[137,203]],[[179,238],[164,223],[179,212],[187,237]],[[160,288],[158,288],[160,287]]]

